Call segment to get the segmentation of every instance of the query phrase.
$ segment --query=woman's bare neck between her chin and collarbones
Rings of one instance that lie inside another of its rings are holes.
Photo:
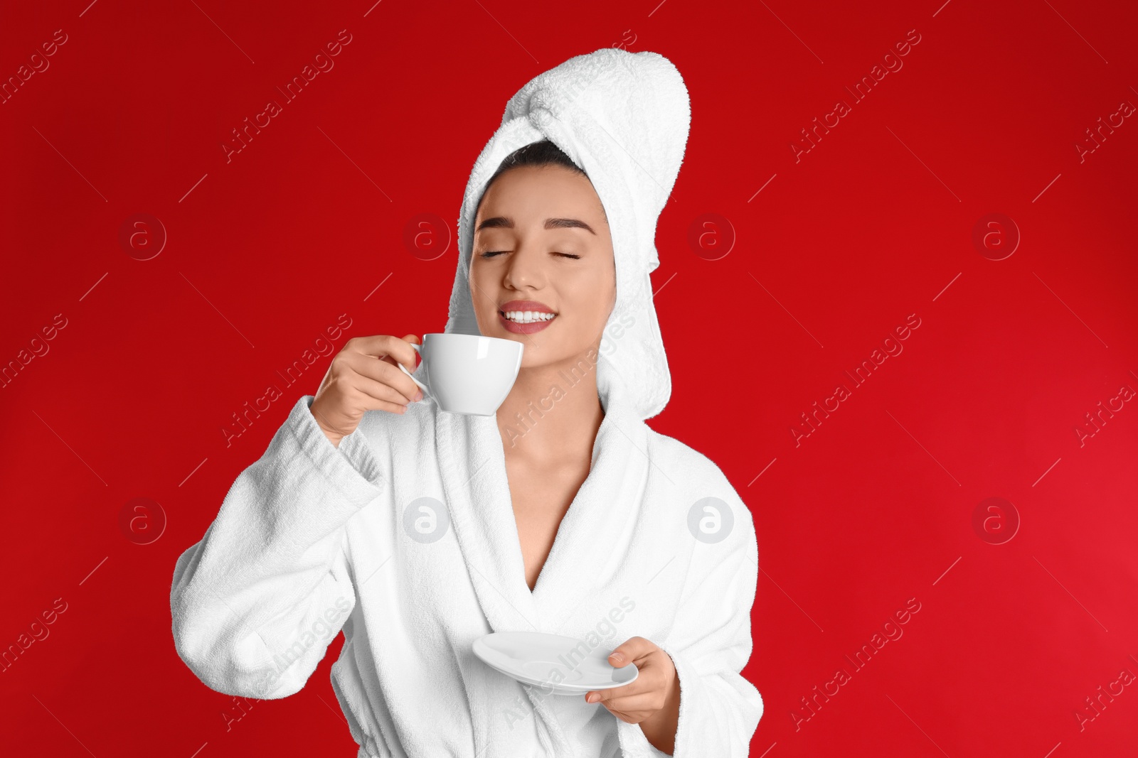
[[[593,359],[589,359],[593,356]],[[522,368],[497,410],[506,456],[563,463],[592,456],[604,409],[596,394],[596,351],[558,364]]]

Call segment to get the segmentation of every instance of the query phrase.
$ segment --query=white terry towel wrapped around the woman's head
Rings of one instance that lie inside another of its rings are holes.
[[[671,375],[649,274],[660,265],[655,224],[679,173],[690,125],[687,88],[657,52],[604,48],[530,80],[510,98],[502,125],[470,173],[445,331],[479,333],[469,272],[475,215],[486,185],[510,153],[547,139],[588,175],[612,234],[617,302],[605,339],[619,340],[619,348],[602,344],[597,392],[605,409],[620,403],[642,419],[663,410]]]

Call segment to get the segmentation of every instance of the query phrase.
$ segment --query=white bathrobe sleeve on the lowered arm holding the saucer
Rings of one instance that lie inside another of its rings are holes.
[[[731,505],[732,534],[717,543],[695,542],[673,630],[667,640],[652,642],[671,657],[679,677],[673,757],[745,758],[762,716],[762,697],[741,674],[751,657],[758,541],[750,510],[719,468],[701,482]],[[617,730],[627,756],[667,756],[640,725],[618,719]]]

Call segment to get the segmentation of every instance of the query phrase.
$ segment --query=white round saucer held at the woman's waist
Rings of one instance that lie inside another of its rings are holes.
[[[531,684],[544,694],[582,694],[635,682],[635,664],[615,668],[613,648],[543,632],[495,632],[475,640],[475,655],[506,676]]]

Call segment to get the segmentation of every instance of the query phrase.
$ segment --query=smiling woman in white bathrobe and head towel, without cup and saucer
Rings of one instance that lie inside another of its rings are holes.
[[[644,424],[670,392],[648,274],[688,123],[657,53],[578,56],[510,100],[463,200],[446,330],[525,344],[510,394],[496,418],[447,414],[398,369],[415,335],[349,340],[179,558],[175,644],[205,684],[292,694],[343,628],[360,758],[747,755],[750,513]],[[511,630],[638,677],[523,685],[471,651]]]

